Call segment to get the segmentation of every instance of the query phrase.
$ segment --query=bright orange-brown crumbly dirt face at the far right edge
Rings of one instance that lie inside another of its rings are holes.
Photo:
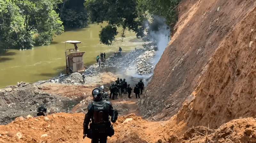
[[[255,15],[254,8],[213,54],[189,105],[189,126],[218,128],[232,119],[256,117]]]

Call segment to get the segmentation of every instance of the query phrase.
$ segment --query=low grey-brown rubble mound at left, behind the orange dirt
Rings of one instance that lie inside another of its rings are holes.
[[[80,101],[78,98],[70,99],[40,92],[41,87],[31,84],[22,87],[21,85],[25,85],[22,83],[18,88],[8,87],[12,91],[0,92],[0,124],[8,124],[20,116],[36,116],[37,108],[42,103],[46,105],[48,113],[57,113],[70,112],[70,109]]]

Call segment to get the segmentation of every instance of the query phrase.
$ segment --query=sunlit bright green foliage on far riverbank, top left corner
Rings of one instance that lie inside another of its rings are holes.
[[[54,11],[61,0],[0,0],[0,52],[48,45],[63,32]],[[35,38],[36,37],[36,38]]]

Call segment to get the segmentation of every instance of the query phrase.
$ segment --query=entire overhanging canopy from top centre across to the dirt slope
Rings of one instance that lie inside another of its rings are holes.
[[[92,22],[108,22],[108,26],[102,28],[99,37],[100,42],[110,45],[118,34],[116,27],[124,30],[132,30],[137,37],[143,37],[143,20],[147,14],[159,15],[165,18],[165,23],[171,25],[177,20],[175,7],[180,0],[87,0],[84,5],[89,11],[89,19]]]

